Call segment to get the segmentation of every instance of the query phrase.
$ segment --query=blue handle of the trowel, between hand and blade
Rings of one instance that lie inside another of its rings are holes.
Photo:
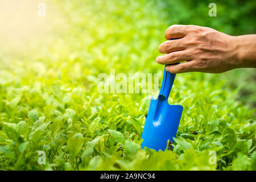
[[[167,66],[167,65],[166,65]],[[163,95],[166,99],[168,99],[169,94],[172,89],[172,85],[174,84],[174,78],[176,74],[172,74],[170,72],[166,71],[166,66],[164,67],[164,75],[163,75],[163,81],[162,81],[162,86],[160,89],[160,95]]]

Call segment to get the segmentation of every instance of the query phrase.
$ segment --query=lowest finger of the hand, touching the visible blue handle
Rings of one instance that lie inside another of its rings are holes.
[[[171,73],[186,73],[186,72],[195,72],[197,68],[195,68],[195,61],[187,61],[185,63],[168,65],[166,67],[167,72]]]

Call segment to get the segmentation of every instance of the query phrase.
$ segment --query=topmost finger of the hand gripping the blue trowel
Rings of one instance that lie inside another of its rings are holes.
[[[187,35],[187,27],[187,25],[174,24],[167,28],[166,32],[164,32],[164,36],[166,37],[167,40],[183,38]]]

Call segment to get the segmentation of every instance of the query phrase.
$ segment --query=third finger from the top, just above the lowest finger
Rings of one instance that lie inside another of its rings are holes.
[[[192,60],[192,56],[191,53],[189,53],[187,50],[171,52],[167,55],[156,57],[156,62],[159,64],[174,64],[189,60]]]

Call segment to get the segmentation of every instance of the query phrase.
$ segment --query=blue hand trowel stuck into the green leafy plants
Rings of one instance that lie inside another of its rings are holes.
[[[174,142],[179,127],[183,107],[181,105],[169,105],[168,97],[174,84],[175,74],[167,72],[164,67],[163,81],[159,96],[156,100],[151,98],[146,122],[141,139],[144,147],[156,151],[164,151],[167,143]]]

